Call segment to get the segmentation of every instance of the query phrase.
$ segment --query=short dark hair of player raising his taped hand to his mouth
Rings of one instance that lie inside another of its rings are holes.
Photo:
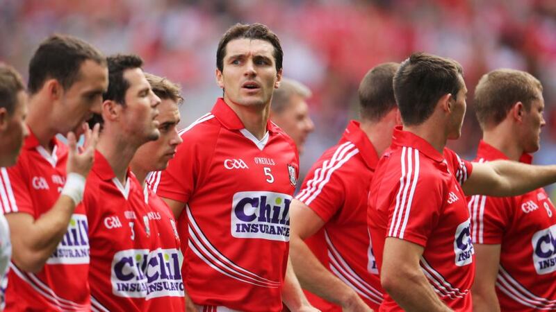
[[[56,79],[64,89],[79,79],[85,60],[106,64],[106,58],[94,46],[70,35],[51,35],[38,47],[29,63],[28,90],[37,93],[48,79]]]

